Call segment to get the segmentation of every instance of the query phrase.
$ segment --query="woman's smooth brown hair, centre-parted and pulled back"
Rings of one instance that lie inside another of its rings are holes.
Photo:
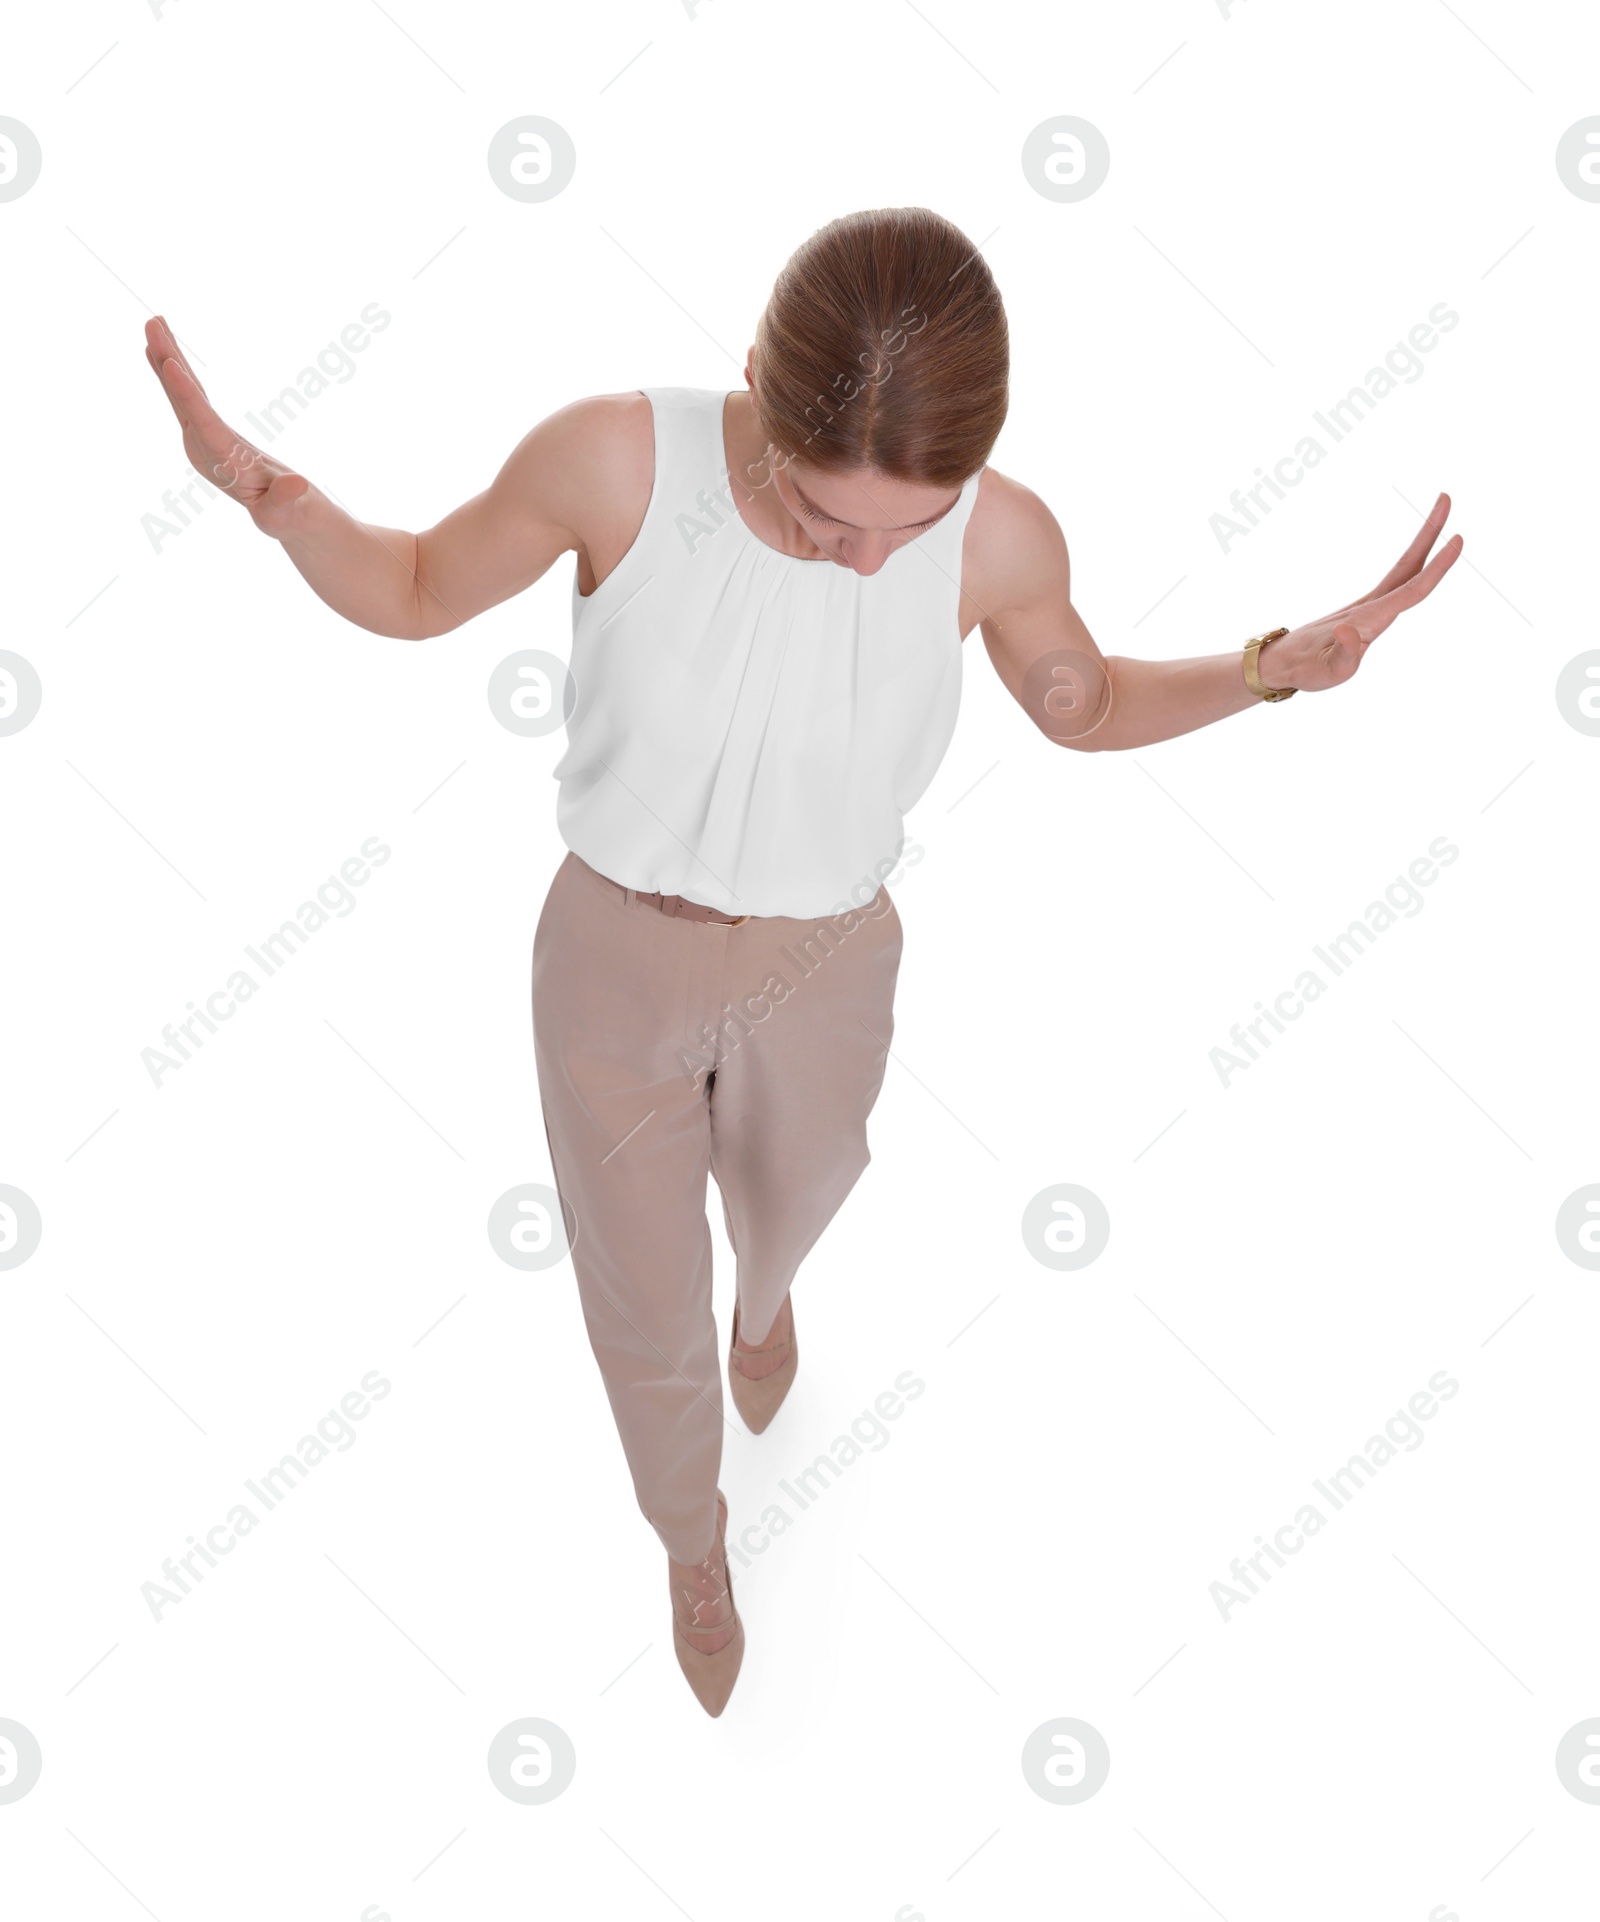
[[[1006,308],[944,215],[846,213],[785,261],[750,367],[760,423],[794,459],[960,486],[1006,421]]]

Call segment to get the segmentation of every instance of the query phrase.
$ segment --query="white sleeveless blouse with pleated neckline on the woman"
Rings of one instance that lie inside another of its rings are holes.
[[[863,579],[746,527],[721,390],[644,392],[644,523],[592,594],[573,580],[562,840],[627,888],[725,915],[863,905],[956,730],[962,534],[979,475]]]

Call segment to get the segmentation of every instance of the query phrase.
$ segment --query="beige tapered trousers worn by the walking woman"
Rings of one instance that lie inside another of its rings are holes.
[[[583,1317],[638,1507],[675,1561],[715,1541],[723,1384],[706,1172],[738,1338],[867,1165],[900,969],[881,890],[833,919],[673,919],[569,853],[533,942],[533,1042]]]

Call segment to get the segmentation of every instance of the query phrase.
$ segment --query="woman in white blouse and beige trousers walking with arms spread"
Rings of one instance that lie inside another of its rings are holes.
[[[729,1388],[794,1380],[794,1272],[867,1163],[900,919],[883,886],[956,725],[979,627],[1054,742],[1144,748],[1338,686],[1444,577],[1440,494],[1371,594],[1187,661],[1106,657],[1050,509],[987,465],[1000,294],[937,213],[852,213],[785,265],[748,392],[656,388],[540,421],[423,534],[369,527],[240,440],[165,321],[146,357],[210,475],[358,627],[446,634],[575,554],[571,850],[533,951],[538,1088],[573,1269],[673,1647],[710,1714],[744,1655],[717,1490],[706,1174],[738,1261]],[[904,550],[904,552],[902,552]]]

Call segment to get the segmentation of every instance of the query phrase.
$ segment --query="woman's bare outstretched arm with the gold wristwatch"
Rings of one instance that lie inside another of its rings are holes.
[[[1244,684],[1242,636],[1227,653],[1187,661],[1104,655],[1071,604],[1067,544],[1056,517],[1027,488],[1004,488],[985,569],[994,584],[983,642],[1042,734],[1063,748],[1148,748],[1260,703]],[[1462,536],[1452,534],[1429,561],[1448,513],[1450,496],[1440,494],[1417,538],[1369,594],[1267,642],[1258,663],[1262,684],[1313,692],[1348,680],[1388,623],[1425,600],[1460,555]]]

